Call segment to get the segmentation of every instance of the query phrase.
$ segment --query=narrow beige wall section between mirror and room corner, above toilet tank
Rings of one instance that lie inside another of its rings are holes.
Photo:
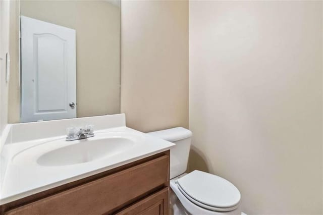
[[[143,132],[188,126],[188,2],[123,1],[121,112]]]

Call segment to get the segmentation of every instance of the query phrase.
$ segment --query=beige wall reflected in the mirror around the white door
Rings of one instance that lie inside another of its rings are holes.
[[[111,1],[21,1],[21,15],[76,30],[77,117],[120,113],[120,8]],[[19,122],[18,77],[10,122]]]

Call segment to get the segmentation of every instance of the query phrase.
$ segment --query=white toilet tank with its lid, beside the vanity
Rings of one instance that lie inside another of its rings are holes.
[[[149,132],[147,134],[176,144],[171,148],[170,178],[172,179],[185,173],[190,152],[192,132],[188,129],[177,127]]]

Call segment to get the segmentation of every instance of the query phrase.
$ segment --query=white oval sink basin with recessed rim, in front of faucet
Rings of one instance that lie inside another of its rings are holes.
[[[82,140],[57,139],[27,148],[13,157],[13,163],[26,165],[68,166],[93,162],[124,153],[133,148],[143,136],[126,132],[105,132]]]

